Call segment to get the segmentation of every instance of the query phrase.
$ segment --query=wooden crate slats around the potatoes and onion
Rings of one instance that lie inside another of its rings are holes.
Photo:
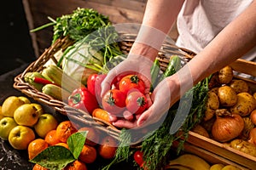
[[[244,59],[237,59],[230,65],[234,71],[244,73],[245,75],[256,77],[256,63],[247,61]],[[242,80],[245,80],[253,92],[256,92],[256,82],[253,79],[236,76]],[[199,149],[206,150],[212,154],[222,157],[225,160],[236,162],[248,169],[256,169],[256,157],[250,156],[239,150],[235,150],[227,144],[221,144],[216,140],[206,138],[198,133],[189,132],[189,144],[194,145]]]

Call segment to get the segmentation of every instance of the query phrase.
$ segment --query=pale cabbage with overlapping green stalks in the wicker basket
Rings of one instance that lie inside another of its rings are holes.
[[[118,57],[120,59],[123,54],[118,41],[119,34],[113,26],[102,27],[74,43],[73,46],[68,47],[59,59],[58,65],[61,65],[63,59],[67,59],[73,61],[77,66],[108,73],[117,61],[114,58]],[[81,50],[84,53],[81,53]],[[77,59],[78,54],[79,59]],[[63,67],[65,66],[67,66],[67,63],[63,65]],[[65,68],[63,69],[65,70]]]

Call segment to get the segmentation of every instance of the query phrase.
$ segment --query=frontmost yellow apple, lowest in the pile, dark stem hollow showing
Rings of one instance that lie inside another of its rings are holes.
[[[27,150],[28,144],[36,139],[31,127],[18,125],[9,132],[9,144],[15,150]]]

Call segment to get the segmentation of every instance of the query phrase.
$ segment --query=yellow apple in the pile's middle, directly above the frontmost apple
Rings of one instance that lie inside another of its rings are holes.
[[[37,108],[31,104],[20,105],[14,113],[15,122],[28,127],[35,125],[39,116]]]

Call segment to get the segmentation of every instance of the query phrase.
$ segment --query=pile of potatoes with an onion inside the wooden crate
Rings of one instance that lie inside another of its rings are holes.
[[[235,77],[228,65],[209,86],[203,121],[192,131],[256,156],[256,92],[250,82]]]

